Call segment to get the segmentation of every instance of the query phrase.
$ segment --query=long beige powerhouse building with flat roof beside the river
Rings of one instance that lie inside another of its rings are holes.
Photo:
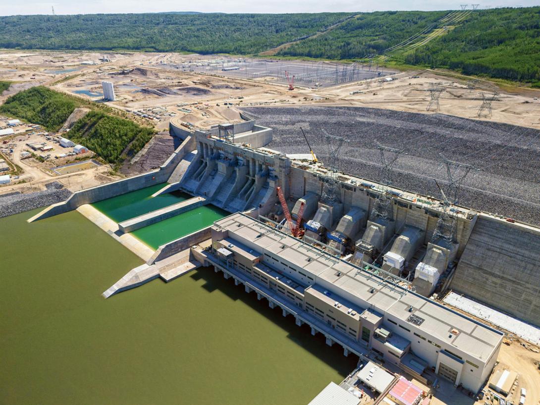
[[[211,231],[207,264],[325,334],[329,345],[339,342],[346,354],[373,350],[409,374],[432,368],[473,392],[495,365],[503,333],[481,322],[248,215],[230,215]]]

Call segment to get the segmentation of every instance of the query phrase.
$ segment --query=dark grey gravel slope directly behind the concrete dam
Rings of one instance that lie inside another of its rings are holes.
[[[445,183],[444,157],[474,165],[463,183],[459,203],[540,224],[540,131],[444,114],[419,114],[365,107],[251,107],[260,125],[274,129],[267,147],[308,153],[300,127],[321,161],[328,147],[321,129],[350,142],[342,149],[343,172],[378,180],[376,142],[403,149],[393,184],[440,198],[435,181]]]

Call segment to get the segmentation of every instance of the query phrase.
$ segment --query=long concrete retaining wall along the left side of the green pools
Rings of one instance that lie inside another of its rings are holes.
[[[30,218],[28,222],[52,217],[53,215],[63,214],[64,212],[76,210],[83,204],[92,204],[97,201],[105,200],[117,195],[137,191],[141,188],[150,187],[156,184],[164,183],[171,176],[176,166],[195,147],[194,140],[186,138],[184,142],[173,152],[167,161],[160,166],[159,170],[153,170],[148,173],[139,174],[127,179],[113,181],[101,186],[86,188],[85,190],[73,193],[63,203],[53,204],[45,208],[42,212]]]

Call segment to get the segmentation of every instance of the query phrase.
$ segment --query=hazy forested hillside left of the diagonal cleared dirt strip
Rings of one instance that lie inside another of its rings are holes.
[[[0,17],[0,48],[257,53],[311,35],[349,15],[10,16]]]

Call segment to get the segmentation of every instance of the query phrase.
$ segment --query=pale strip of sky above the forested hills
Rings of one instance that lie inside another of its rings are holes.
[[[460,4],[441,0],[198,0],[186,2],[178,0],[0,0],[0,15],[52,14],[52,7],[60,14],[97,13],[141,13],[164,11],[201,11],[227,13],[285,13],[285,12],[325,12],[325,11],[383,11],[383,10],[452,10]],[[479,8],[486,6],[532,6],[539,0],[487,0]],[[470,5],[469,5],[470,8]]]

